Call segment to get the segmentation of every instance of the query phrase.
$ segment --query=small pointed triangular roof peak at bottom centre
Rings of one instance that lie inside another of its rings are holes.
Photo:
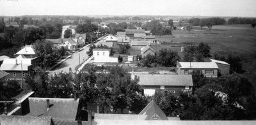
[[[154,115],[157,114],[160,120],[168,120],[164,112],[159,108],[156,103],[152,100],[148,105],[143,108],[139,115],[147,115],[145,120],[154,120]],[[159,119],[157,119],[159,120]]]

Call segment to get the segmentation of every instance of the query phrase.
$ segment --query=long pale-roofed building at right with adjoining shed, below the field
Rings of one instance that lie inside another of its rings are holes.
[[[178,74],[190,74],[193,71],[201,71],[205,77],[218,77],[221,74],[229,74],[230,64],[224,61],[211,59],[211,62],[179,62],[177,61]]]

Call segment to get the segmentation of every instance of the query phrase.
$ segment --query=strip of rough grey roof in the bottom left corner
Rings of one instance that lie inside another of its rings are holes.
[[[0,115],[0,124],[8,125],[51,125],[51,117],[29,117],[19,115]]]

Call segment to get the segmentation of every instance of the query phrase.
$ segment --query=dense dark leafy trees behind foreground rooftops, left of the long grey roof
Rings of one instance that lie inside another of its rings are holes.
[[[94,66],[89,66],[88,73],[60,73],[48,77],[47,73],[41,72],[27,77],[26,82],[29,89],[35,91],[35,97],[74,98],[77,95],[83,102],[83,107],[87,103],[96,103],[102,109],[113,108],[114,113],[117,108],[140,112],[147,105],[138,79],[132,80],[127,71],[113,66],[109,68],[109,73],[95,73]],[[105,110],[100,112],[107,113]]]

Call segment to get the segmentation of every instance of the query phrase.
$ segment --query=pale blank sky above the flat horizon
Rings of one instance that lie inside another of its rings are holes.
[[[0,15],[256,17],[256,0],[0,0]]]

